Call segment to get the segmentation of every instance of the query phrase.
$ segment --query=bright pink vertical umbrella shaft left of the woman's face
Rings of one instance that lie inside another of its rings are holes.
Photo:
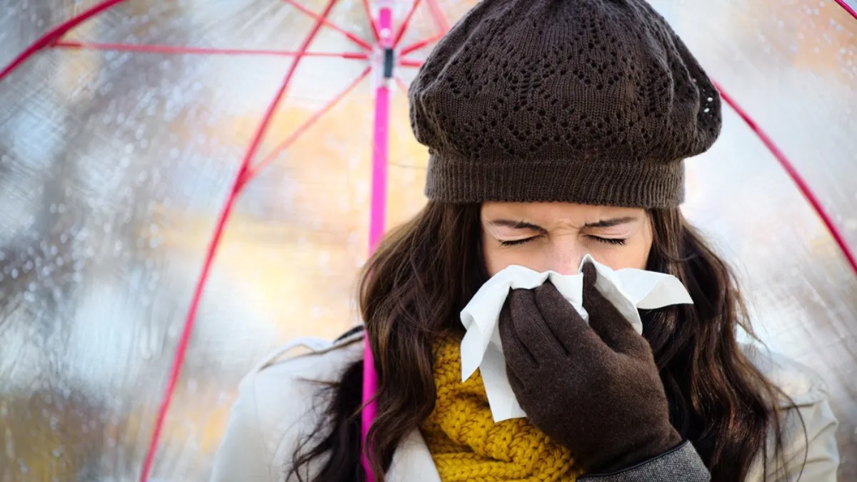
[[[381,49],[387,50],[393,46],[393,10],[382,6],[379,13],[378,27],[380,30]],[[369,220],[369,250],[375,251],[384,234],[384,222],[387,215],[387,146],[389,143],[388,127],[390,124],[390,90],[387,69],[387,52],[384,52],[384,75],[381,84],[375,90],[375,136],[372,150],[372,212]],[[361,414],[361,431],[363,440],[363,468],[369,482],[375,480],[375,474],[369,465],[367,455],[369,428],[375,420],[378,411],[373,400],[378,389],[378,374],[375,372],[375,361],[369,344],[369,334],[365,336],[363,350],[363,413]]]

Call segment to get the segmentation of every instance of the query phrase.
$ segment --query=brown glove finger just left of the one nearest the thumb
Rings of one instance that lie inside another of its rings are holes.
[[[509,310],[518,340],[532,354],[539,366],[554,363],[565,356],[565,350],[551,332],[536,304],[532,290],[512,290],[509,293]]]

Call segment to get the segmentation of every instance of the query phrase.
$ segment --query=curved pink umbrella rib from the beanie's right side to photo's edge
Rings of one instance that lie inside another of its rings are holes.
[[[788,174],[788,177],[794,181],[794,184],[796,184],[798,190],[800,190],[800,194],[802,194],[804,198],[806,198],[806,201],[812,205],[812,208],[815,209],[815,212],[818,214],[818,217],[821,218],[824,226],[827,227],[827,230],[833,236],[833,239],[836,241],[839,249],[842,250],[842,254],[845,256],[848,264],[854,270],[854,274],[857,274],[857,256],[854,256],[854,252],[848,246],[848,243],[845,241],[845,237],[842,235],[839,227],[836,226],[836,223],[830,217],[830,214],[828,214],[824,209],[824,206],[822,206],[821,202],[818,200],[818,196],[816,196],[815,192],[812,191],[812,188],[806,182],[806,179],[800,175],[800,172],[798,172],[794,167],[794,164],[788,160],[786,154],[783,154],[782,149],[780,149],[770,136],[768,136],[768,134],[762,130],[758,124],[756,124],[756,121],[750,117],[750,115],[732,98],[732,96],[726,93],[720,85],[717,85],[717,90],[720,91],[720,95],[723,100],[726,101],[726,103],[744,120],[747,126],[756,133],[759,140],[762,141],[768,150],[770,150],[770,154],[774,155],[777,162],[779,162],[780,166],[782,166]]]

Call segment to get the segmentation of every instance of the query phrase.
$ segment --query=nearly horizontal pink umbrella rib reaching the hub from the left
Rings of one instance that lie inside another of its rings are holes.
[[[211,47],[189,47],[179,45],[139,45],[139,44],[105,44],[98,42],[80,42],[76,40],[60,40],[51,45],[53,48],[81,49],[93,51],[131,51],[143,53],[165,54],[199,54],[199,55],[263,55],[274,57],[297,57],[297,51],[275,51],[255,49],[218,49]],[[369,54],[365,52],[306,52],[303,57],[338,57],[366,60]]]

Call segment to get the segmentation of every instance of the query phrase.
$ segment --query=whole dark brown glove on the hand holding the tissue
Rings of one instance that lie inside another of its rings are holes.
[[[584,267],[589,325],[554,285],[512,290],[500,312],[506,369],[518,403],[588,473],[610,473],[674,448],[649,342],[595,289]]]

